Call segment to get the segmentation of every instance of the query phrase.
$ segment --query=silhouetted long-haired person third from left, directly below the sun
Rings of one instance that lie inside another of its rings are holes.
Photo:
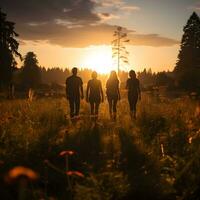
[[[106,82],[106,95],[109,103],[110,118],[116,120],[117,101],[120,100],[121,97],[119,92],[119,80],[115,71],[111,71]]]

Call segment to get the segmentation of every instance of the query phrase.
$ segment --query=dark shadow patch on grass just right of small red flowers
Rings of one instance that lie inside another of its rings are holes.
[[[95,172],[103,166],[101,135],[101,128],[96,124],[90,128],[78,130],[65,138],[64,146],[76,152],[74,167],[79,165],[79,169],[81,167]]]

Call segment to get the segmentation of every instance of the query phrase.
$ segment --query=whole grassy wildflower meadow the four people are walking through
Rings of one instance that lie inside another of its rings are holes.
[[[198,109],[143,93],[136,120],[122,98],[117,122],[106,101],[94,122],[83,100],[72,124],[64,97],[1,101],[0,199],[197,200]]]

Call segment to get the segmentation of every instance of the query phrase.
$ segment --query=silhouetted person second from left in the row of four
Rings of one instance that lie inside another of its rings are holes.
[[[90,103],[91,115],[98,118],[100,102],[104,101],[101,81],[97,79],[97,72],[92,72],[92,79],[88,81],[86,101]]]

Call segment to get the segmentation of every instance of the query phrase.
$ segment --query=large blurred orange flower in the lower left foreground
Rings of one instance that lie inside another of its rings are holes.
[[[30,168],[17,166],[17,167],[12,168],[8,172],[7,181],[11,182],[11,181],[16,180],[19,177],[26,177],[29,180],[34,181],[38,179],[39,175]]]

